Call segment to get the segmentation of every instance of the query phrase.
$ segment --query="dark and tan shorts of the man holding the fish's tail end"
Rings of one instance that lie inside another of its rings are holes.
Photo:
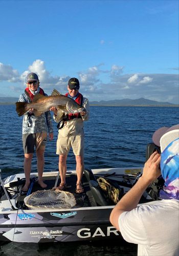
[[[34,153],[34,147],[36,147],[36,151],[40,148],[40,150],[45,150],[47,142],[47,133],[32,133],[32,134],[23,134],[23,148],[24,153]]]

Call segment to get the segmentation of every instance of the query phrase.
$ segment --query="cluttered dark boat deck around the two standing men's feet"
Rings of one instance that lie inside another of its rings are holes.
[[[106,172],[107,170],[107,172]],[[82,176],[82,185],[84,187],[84,192],[81,194],[76,193],[76,182],[77,182],[77,176],[74,171],[68,172],[66,174],[66,184],[70,186],[69,188],[65,188],[65,191],[68,191],[72,193],[76,199],[76,205],[75,208],[81,208],[81,207],[96,207],[96,206],[114,206],[116,204],[116,201],[114,200],[114,195],[108,190],[108,193],[105,191],[105,189],[101,189],[99,186],[99,177],[105,178],[115,189],[118,188],[120,193],[118,195],[118,199],[120,199],[125,193],[133,186],[133,184],[136,182],[136,177],[138,177],[139,173],[133,174],[133,171],[136,170],[139,171],[139,169],[131,169],[131,173],[129,175],[120,173],[117,169],[104,169],[103,172],[94,174],[91,169],[84,169],[84,174]],[[127,169],[128,172],[128,169]],[[31,174],[31,180],[35,179],[35,182],[33,184],[33,187],[30,191],[30,194],[39,191],[44,190],[44,188],[41,188],[40,185],[37,182],[38,174],[34,173]],[[58,178],[58,172],[48,172],[44,173],[43,175],[43,181],[47,184],[47,187],[45,190],[53,189],[55,184],[57,184],[57,187],[60,184],[60,177]],[[58,181],[58,182],[57,182]],[[115,182],[115,183],[114,183]],[[10,177],[9,180],[6,182],[7,190],[9,190],[9,194],[11,196],[11,199],[15,199],[16,207],[20,209],[28,209],[28,207],[24,203],[24,198],[27,196],[27,194],[20,194],[19,191],[25,184],[25,178],[23,174]],[[9,185],[9,187],[8,187]],[[15,193],[13,193],[15,191]],[[17,192],[17,193],[16,193]],[[111,195],[113,198],[111,198]],[[29,195],[29,194],[28,194]],[[143,197],[140,200],[140,203],[149,202],[152,200],[150,197],[147,198],[148,195],[143,195]],[[3,198],[2,198],[3,199]],[[115,202],[114,202],[115,201]]]

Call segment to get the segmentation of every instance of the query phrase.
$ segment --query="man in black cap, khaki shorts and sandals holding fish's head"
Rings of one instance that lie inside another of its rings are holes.
[[[54,120],[59,122],[59,131],[57,139],[57,151],[56,154],[59,155],[59,173],[61,182],[58,186],[59,190],[63,190],[66,187],[66,158],[72,147],[73,153],[76,157],[76,173],[77,173],[77,183],[76,183],[76,193],[81,194],[84,188],[81,184],[82,174],[83,174],[83,154],[84,154],[84,131],[83,131],[83,121],[89,119],[89,101],[84,98],[81,93],[79,93],[79,80],[75,77],[71,78],[68,82],[68,93],[65,94],[66,97],[70,97],[75,100],[78,104],[84,106],[86,111],[82,111],[77,114],[65,114],[62,119],[57,119],[57,110],[51,108],[54,111]]]

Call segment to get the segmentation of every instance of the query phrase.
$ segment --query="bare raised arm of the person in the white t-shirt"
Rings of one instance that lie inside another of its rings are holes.
[[[111,211],[110,222],[119,228],[119,217],[124,211],[130,211],[137,207],[145,189],[148,185],[161,175],[159,165],[161,156],[154,152],[144,165],[142,177],[138,182],[122,197],[115,208]]]

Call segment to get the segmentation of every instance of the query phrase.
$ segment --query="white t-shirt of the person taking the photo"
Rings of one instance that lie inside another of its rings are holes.
[[[122,237],[138,244],[138,256],[179,255],[179,201],[161,200],[123,212],[119,217]]]

